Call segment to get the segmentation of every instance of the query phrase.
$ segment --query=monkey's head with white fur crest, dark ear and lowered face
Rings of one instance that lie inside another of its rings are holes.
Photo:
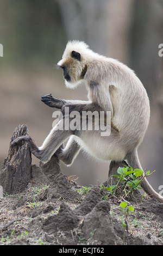
[[[82,82],[87,71],[87,59],[91,53],[93,52],[85,42],[67,43],[62,59],[57,64],[64,71],[66,87],[75,88]]]

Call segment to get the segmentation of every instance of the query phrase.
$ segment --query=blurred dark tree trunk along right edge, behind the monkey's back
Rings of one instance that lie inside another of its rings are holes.
[[[147,89],[151,105],[151,119],[145,139],[139,149],[139,156],[143,167],[151,171],[156,170],[156,173],[148,178],[156,191],[159,185],[162,185],[163,178],[161,140],[163,130],[161,62],[163,57],[159,57],[158,54],[159,44],[163,43],[162,13],[162,1],[135,1],[133,35],[130,45],[130,66]]]

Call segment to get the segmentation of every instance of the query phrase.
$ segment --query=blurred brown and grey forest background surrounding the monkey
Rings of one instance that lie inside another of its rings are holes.
[[[83,40],[105,56],[135,70],[151,101],[151,121],[139,148],[142,167],[156,170],[149,182],[163,185],[163,0],[1,0],[0,160],[8,155],[12,132],[27,124],[37,145],[52,129],[55,109],[42,95],[86,100],[86,89],[65,89],[55,65],[68,40]],[[127,124],[126,124],[127,125]],[[33,163],[39,161],[33,156]],[[80,185],[95,185],[108,177],[109,163],[97,163],[80,153],[66,175]]]

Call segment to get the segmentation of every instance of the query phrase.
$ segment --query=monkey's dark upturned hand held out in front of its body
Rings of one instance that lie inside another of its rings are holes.
[[[65,100],[61,100],[52,96],[52,94],[46,94],[41,97],[41,101],[43,101],[49,107],[61,108],[66,104]]]

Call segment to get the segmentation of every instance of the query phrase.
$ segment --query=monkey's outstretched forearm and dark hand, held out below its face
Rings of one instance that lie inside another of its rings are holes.
[[[49,107],[55,107],[55,108],[62,108],[62,106],[70,103],[80,103],[80,104],[90,103],[90,101],[58,99],[53,97],[52,94],[47,94],[45,96],[42,96],[41,101],[44,102]]]

